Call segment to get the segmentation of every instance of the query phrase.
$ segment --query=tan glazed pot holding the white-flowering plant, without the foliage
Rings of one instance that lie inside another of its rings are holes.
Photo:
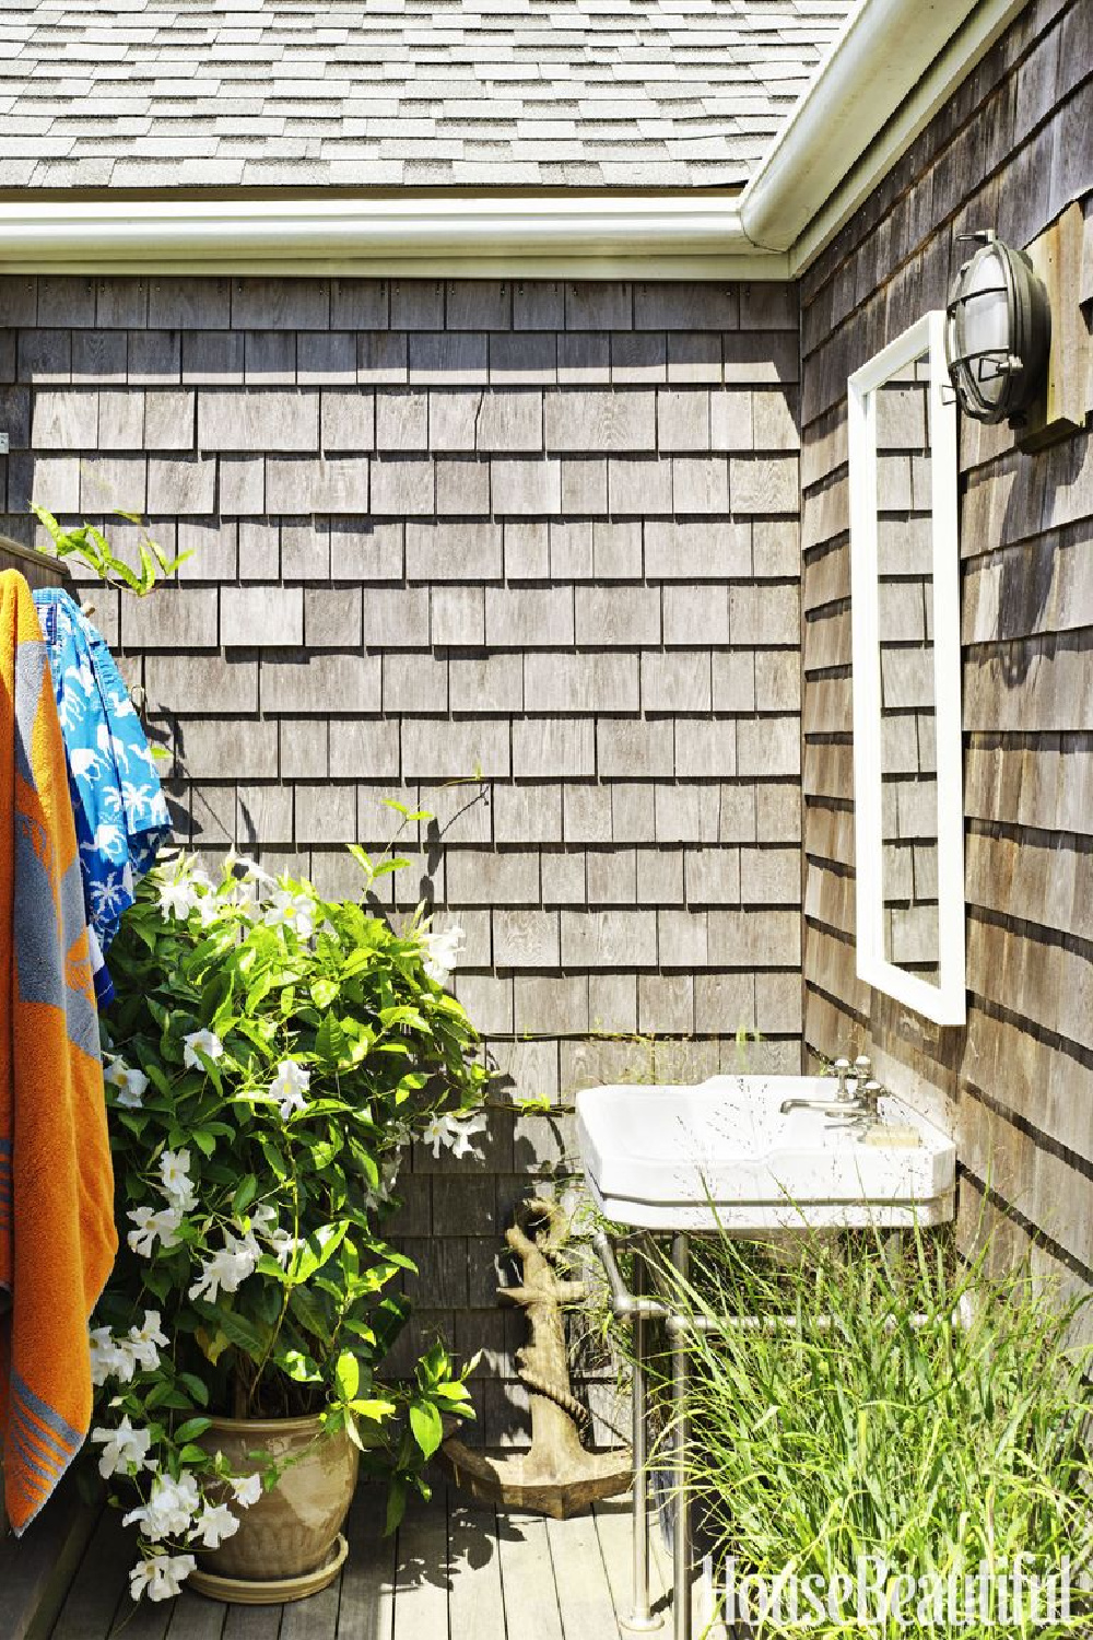
[[[300,1594],[313,1594],[333,1581],[344,1560],[339,1532],[357,1484],[359,1453],[344,1430],[324,1435],[318,1417],[311,1419],[215,1419],[202,1437],[210,1451],[223,1451],[236,1474],[257,1474],[264,1468],[252,1451],[267,1453],[277,1463],[292,1460],[277,1486],[262,1492],[239,1515],[239,1530],[218,1550],[198,1556],[192,1581],[205,1592],[220,1594],[213,1583],[243,1579],[251,1586],[279,1584],[270,1601],[292,1599],[285,1583],[306,1584]],[[324,1581],[315,1581],[329,1571]],[[203,1579],[202,1574],[211,1574]],[[224,1599],[257,1602],[261,1592]]]

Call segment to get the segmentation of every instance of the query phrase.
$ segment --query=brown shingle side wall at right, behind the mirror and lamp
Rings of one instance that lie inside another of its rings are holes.
[[[806,1038],[926,1089],[967,1237],[1036,1228],[1067,1281],[1093,1276],[1093,444],[962,430],[970,1014],[939,1030],[854,974],[846,379],[944,307],[955,235],[1023,246],[1082,198],[1088,323],[1091,18],[1029,5],[801,284]]]

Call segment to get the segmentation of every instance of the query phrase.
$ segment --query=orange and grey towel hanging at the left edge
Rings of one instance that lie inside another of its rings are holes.
[[[0,574],[0,1443],[21,1532],[87,1438],[118,1250],[98,1014],[46,645]]]

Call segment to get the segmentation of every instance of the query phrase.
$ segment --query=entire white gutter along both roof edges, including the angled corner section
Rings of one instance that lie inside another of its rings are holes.
[[[857,0],[747,187],[0,202],[3,272],[790,279],[1027,0]]]

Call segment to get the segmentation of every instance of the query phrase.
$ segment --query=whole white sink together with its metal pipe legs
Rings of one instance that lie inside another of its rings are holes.
[[[860,1061],[859,1061],[860,1064]],[[849,1066],[847,1066],[849,1069]],[[823,1076],[713,1076],[696,1087],[616,1086],[577,1094],[577,1137],[592,1194],[605,1215],[633,1230],[672,1237],[672,1261],[687,1269],[692,1235],[755,1237],[778,1230],[908,1228],[952,1219],[955,1145],[891,1094],[877,1118],[854,1109],[791,1109],[793,1099],[832,1102]],[[877,1084],[867,1084],[867,1087]],[[646,1369],[649,1315],[665,1319],[672,1340],[673,1487],[685,1494],[685,1319],[642,1296],[642,1256],[634,1248],[634,1292],[626,1291],[606,1233],[605,1261],[616,1315],[634,1328],[634,1609],[633,1633],[660,1624],[649,1606],[646,1512]],[[688,1509],[673,1524],[673,1637],[692,1635]]]

